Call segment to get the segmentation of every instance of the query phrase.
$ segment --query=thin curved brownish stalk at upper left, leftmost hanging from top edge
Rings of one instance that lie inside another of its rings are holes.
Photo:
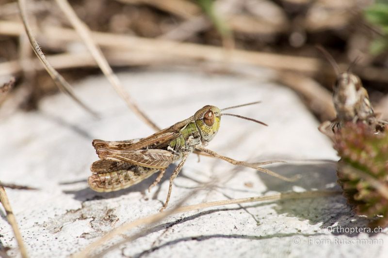
[[[74,93],[74,91],[71,88],[70,84],[47,61],[47,59],[46,59],[45,55],[43,54],[42,50],[40,49],[38,43],[36,42],[35,38],[32,36],[31,28],[30,28],[30,25],[29,25],[29,23],[27,21],[27,12],[26,12],[26,7],[25,7],[25,0],[18,0],[18,4],[19,4],[19,10],[20,10],[20,17],[21,17],[21,19],[23,21],[24,29],[25,29],[25,31],[27,33],[28,39],[30,40],[32,49],[35,52],[36,56],[39,58],[39,60],[45,66],[46,71],[49,73],[51,78],[54,80],[54,82],[58,86],[59,90],[64,92],[66,95],[70,96],[75,102],[77,102],[82,108],[84,108],[86,111],[88,111],[94,117],[98,117],[97,113],[95,111],[93,111],[91,108],[86,106],[76,96],[76,94]]]

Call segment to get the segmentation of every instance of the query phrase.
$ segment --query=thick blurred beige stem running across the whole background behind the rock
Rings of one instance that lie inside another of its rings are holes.
[[[54,43],[80,41],[76,31],[56,26],[42,28],[42,37]],[[0,34],[18,36],[22,33],[22,25],[17,22],[0,20]],[[91,31],[92,39],[98,46],[109,49],[130,50],[144,53],[146,56],[156,55],[166,59],[174,59],[176,62],[184,61],[212,61],[224,62],[225,54],[229,55],[227,61],[230,64],[248,64],[268,67],[276,70],[289,70],[302,73],[333,75],[333,71],[327,66],[326,61],[312,57],[300,57],[234,49],[225,51],[218,46],[204,46],[193,43],[180,43],[170,40],[149,39],[137,36],[129,36],[107,32]],[[347,67],[346,64],[339,64]],[[388,73],[385,69],[377,67],[355,67],[355,72],[367,80],[388,82]]]

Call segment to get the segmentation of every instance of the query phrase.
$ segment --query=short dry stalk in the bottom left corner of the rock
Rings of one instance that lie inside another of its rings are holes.
[[[9,224],[11,224],[12,230],[14,231],[17,245],[19,245],[20,254],[23,258],[27,258],[28,255],[27,255],[26,248],[24,247],[23,238],[20,234],[19,227],[17,226],[14,212],[12,212],[11,204],[9,203],[7,193],[5,192],[4,187],[1,185],[1,182],[0,182],[0,202],[4,207],[8,222]]]

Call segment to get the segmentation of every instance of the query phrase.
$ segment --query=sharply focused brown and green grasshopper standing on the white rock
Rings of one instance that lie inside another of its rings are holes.
[[[221,113],[221,111],[230,108],[256,103],[259,102],[231,106],[224,109],[219,109],[216,106],[204,106],[195,112],[194,116],[142,139],[126,141],[93,140],[92,144],[100,160],[94,162],[91,166],[93,175],[88,179],[90,188],[97,192],[117,191],[139,183],[160,171],[155,182],[149,186],[148,190],[150,190],[151,187],[160,182],[166,168],[170,164],[179,161],[178,166],[170,177],[168,195],[161,209],[162,211],[167,207],[174,179],[178,176],[188,155],[195,149],[234,165],[252,167],[279,179],[294,181],[295,179],[286,178],[271,170],[259,167],[281,161],[247,163],[221,156],[204,148],[217,134],[221,116],[234,116],[266,125],[251,118]]]

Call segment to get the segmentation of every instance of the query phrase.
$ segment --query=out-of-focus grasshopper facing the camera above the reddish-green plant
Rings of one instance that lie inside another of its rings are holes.
[[[332,139],[334,139],[334,133],[346,122],[363,122],[371,126],[376,133],[384,131],[387,122],[379,120],[374,113],[368,91],[362,86],[361,79],[350,72],[352,65],[347,72],[340,73],[334,58],[322,47],[318,49],[323,52],[337,75],[333,87],[333,103],[337,111],[337,118],[323,122],[319,130]]]

